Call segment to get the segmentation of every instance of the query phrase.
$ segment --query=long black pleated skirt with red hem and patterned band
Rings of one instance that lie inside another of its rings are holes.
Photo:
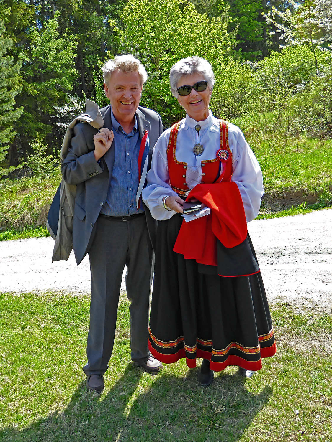
[[[151,353],[164,363],[185,358],[191,368],[196,358],[204,358],[214,371],[232,365],[259,370],[262,358],[276,351],[260,272],[224,277],[213,267],[184,259],[173,251],[182,219],[177,213],[158,222]]]

